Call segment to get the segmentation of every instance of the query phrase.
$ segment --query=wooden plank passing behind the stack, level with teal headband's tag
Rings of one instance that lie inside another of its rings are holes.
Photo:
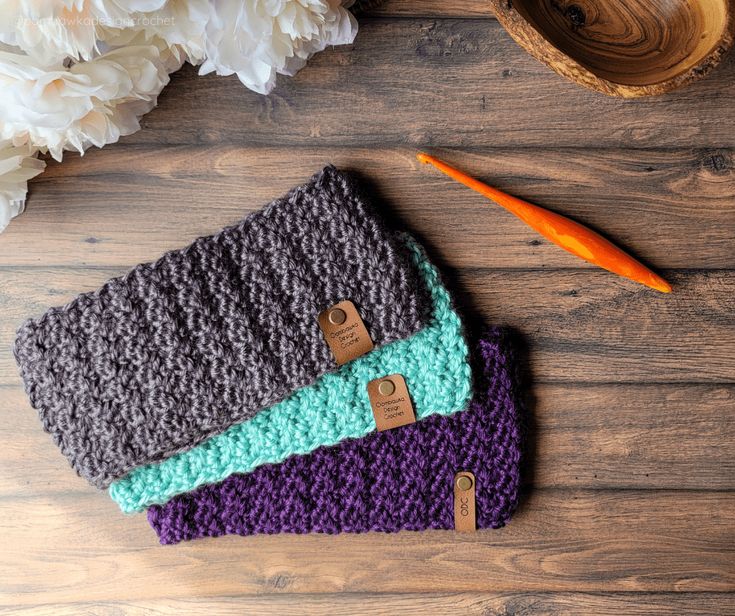
[[[733,385],[538,384],[532,394],[527,489],[735,490]],[[21,387],[0,387],[0,417],[16,435],[0,448],[0,502],[92,493]]]

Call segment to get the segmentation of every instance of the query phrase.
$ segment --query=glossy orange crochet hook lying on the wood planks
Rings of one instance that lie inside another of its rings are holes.
[[[499,206],[515,214],[529,227],[538,231],[548,240],[561,246],[580,259],[598,265],[610,272],[640,282],[641,284],[661,291],[671,293],[671,285],[661,276],[655,274],[642,263],[623,252],[612,242],[606,240],[599,233],[580,225],[560,214],[533,205],[522,199],[512,197],[496,188],[483,184],[466,173],[451,167],[445,162],[424,154],[416,155],[422,163],[433,165],[439,171],[446,173],[450,178],[457,180],[472,190],[479,192]]]

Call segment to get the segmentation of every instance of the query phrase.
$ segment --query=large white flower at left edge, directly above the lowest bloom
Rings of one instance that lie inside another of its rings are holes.
[[[181,59],[155,41],[114,48],[88,62],[39,66],[29,56],[0,51],[0,139],[81,153],[139,128]]]

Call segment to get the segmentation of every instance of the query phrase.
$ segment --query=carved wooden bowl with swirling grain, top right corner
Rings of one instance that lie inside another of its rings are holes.
[[[611,96],[663,94],[714,68],[735,0],[490,0],[498,21],[560,75]]]

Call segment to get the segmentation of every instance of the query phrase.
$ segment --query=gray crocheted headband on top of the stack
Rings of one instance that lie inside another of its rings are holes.
[[[336,368],[318,314],[351,300],[376,346],[419,331],[407,248],[333,167],[240,224],[27,321],[15,357],[76,471],[104,488]]]

